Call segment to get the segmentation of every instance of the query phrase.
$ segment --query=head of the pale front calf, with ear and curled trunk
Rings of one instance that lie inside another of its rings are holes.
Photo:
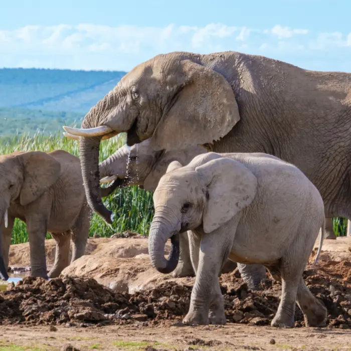
[[[219,229],[252,202],[256,189],[257,179],[248,168],[218,153],[199,155],[185,167],[170,163],[153,195],[155,214],[149,232],[153,267],[171,272],[178,263],[178,250],[164,258],[169,238],[176,245],[177,236],[186,230]]]

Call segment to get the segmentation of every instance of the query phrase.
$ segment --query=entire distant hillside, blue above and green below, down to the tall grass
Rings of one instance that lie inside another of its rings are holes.
[[[62,130],[82,117],[126,74],[122,71],[0,69],[0,136]]]

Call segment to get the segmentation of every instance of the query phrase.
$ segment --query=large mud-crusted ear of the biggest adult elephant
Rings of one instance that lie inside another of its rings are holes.
[[[174,103],[154,130],[152,149],[184,149],[228,134],[240,116],[227,80],[191,60],[178,61],[178,66],[172,68],[166,84],[174,91]]]

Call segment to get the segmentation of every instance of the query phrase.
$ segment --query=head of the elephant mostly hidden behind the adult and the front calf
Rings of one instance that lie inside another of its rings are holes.
[[[113,181],[109,187],[101,189],[101,196],[108,196],[117,187],[133,185],[154,191],[170,162],[178,160],[182,164],[188,164],[194,156],[205,152],[200,146],[189,147],[187,150],[154,151],[150,139],[131,147],[123,145],[99,164],[100,183]]]

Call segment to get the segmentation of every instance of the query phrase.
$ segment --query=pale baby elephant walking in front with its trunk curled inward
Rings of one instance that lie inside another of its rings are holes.
[[[263,153],[210,152],[184,167],[170,163],[153,201],[149,255],[154,268],[166,273],[175,268],[179,233],[193,233],[196,280],[185,323],[226,323],[218,273],[228,257],[263,264],[281,281],[272,326],[294,326],[295,301],[306,326],[325,321],[325,307],[302,278],[320,228],[320,247],[323,241],[324,206],[297,167]],[[166,260],[164,245],[169,238],[172,251]]]

